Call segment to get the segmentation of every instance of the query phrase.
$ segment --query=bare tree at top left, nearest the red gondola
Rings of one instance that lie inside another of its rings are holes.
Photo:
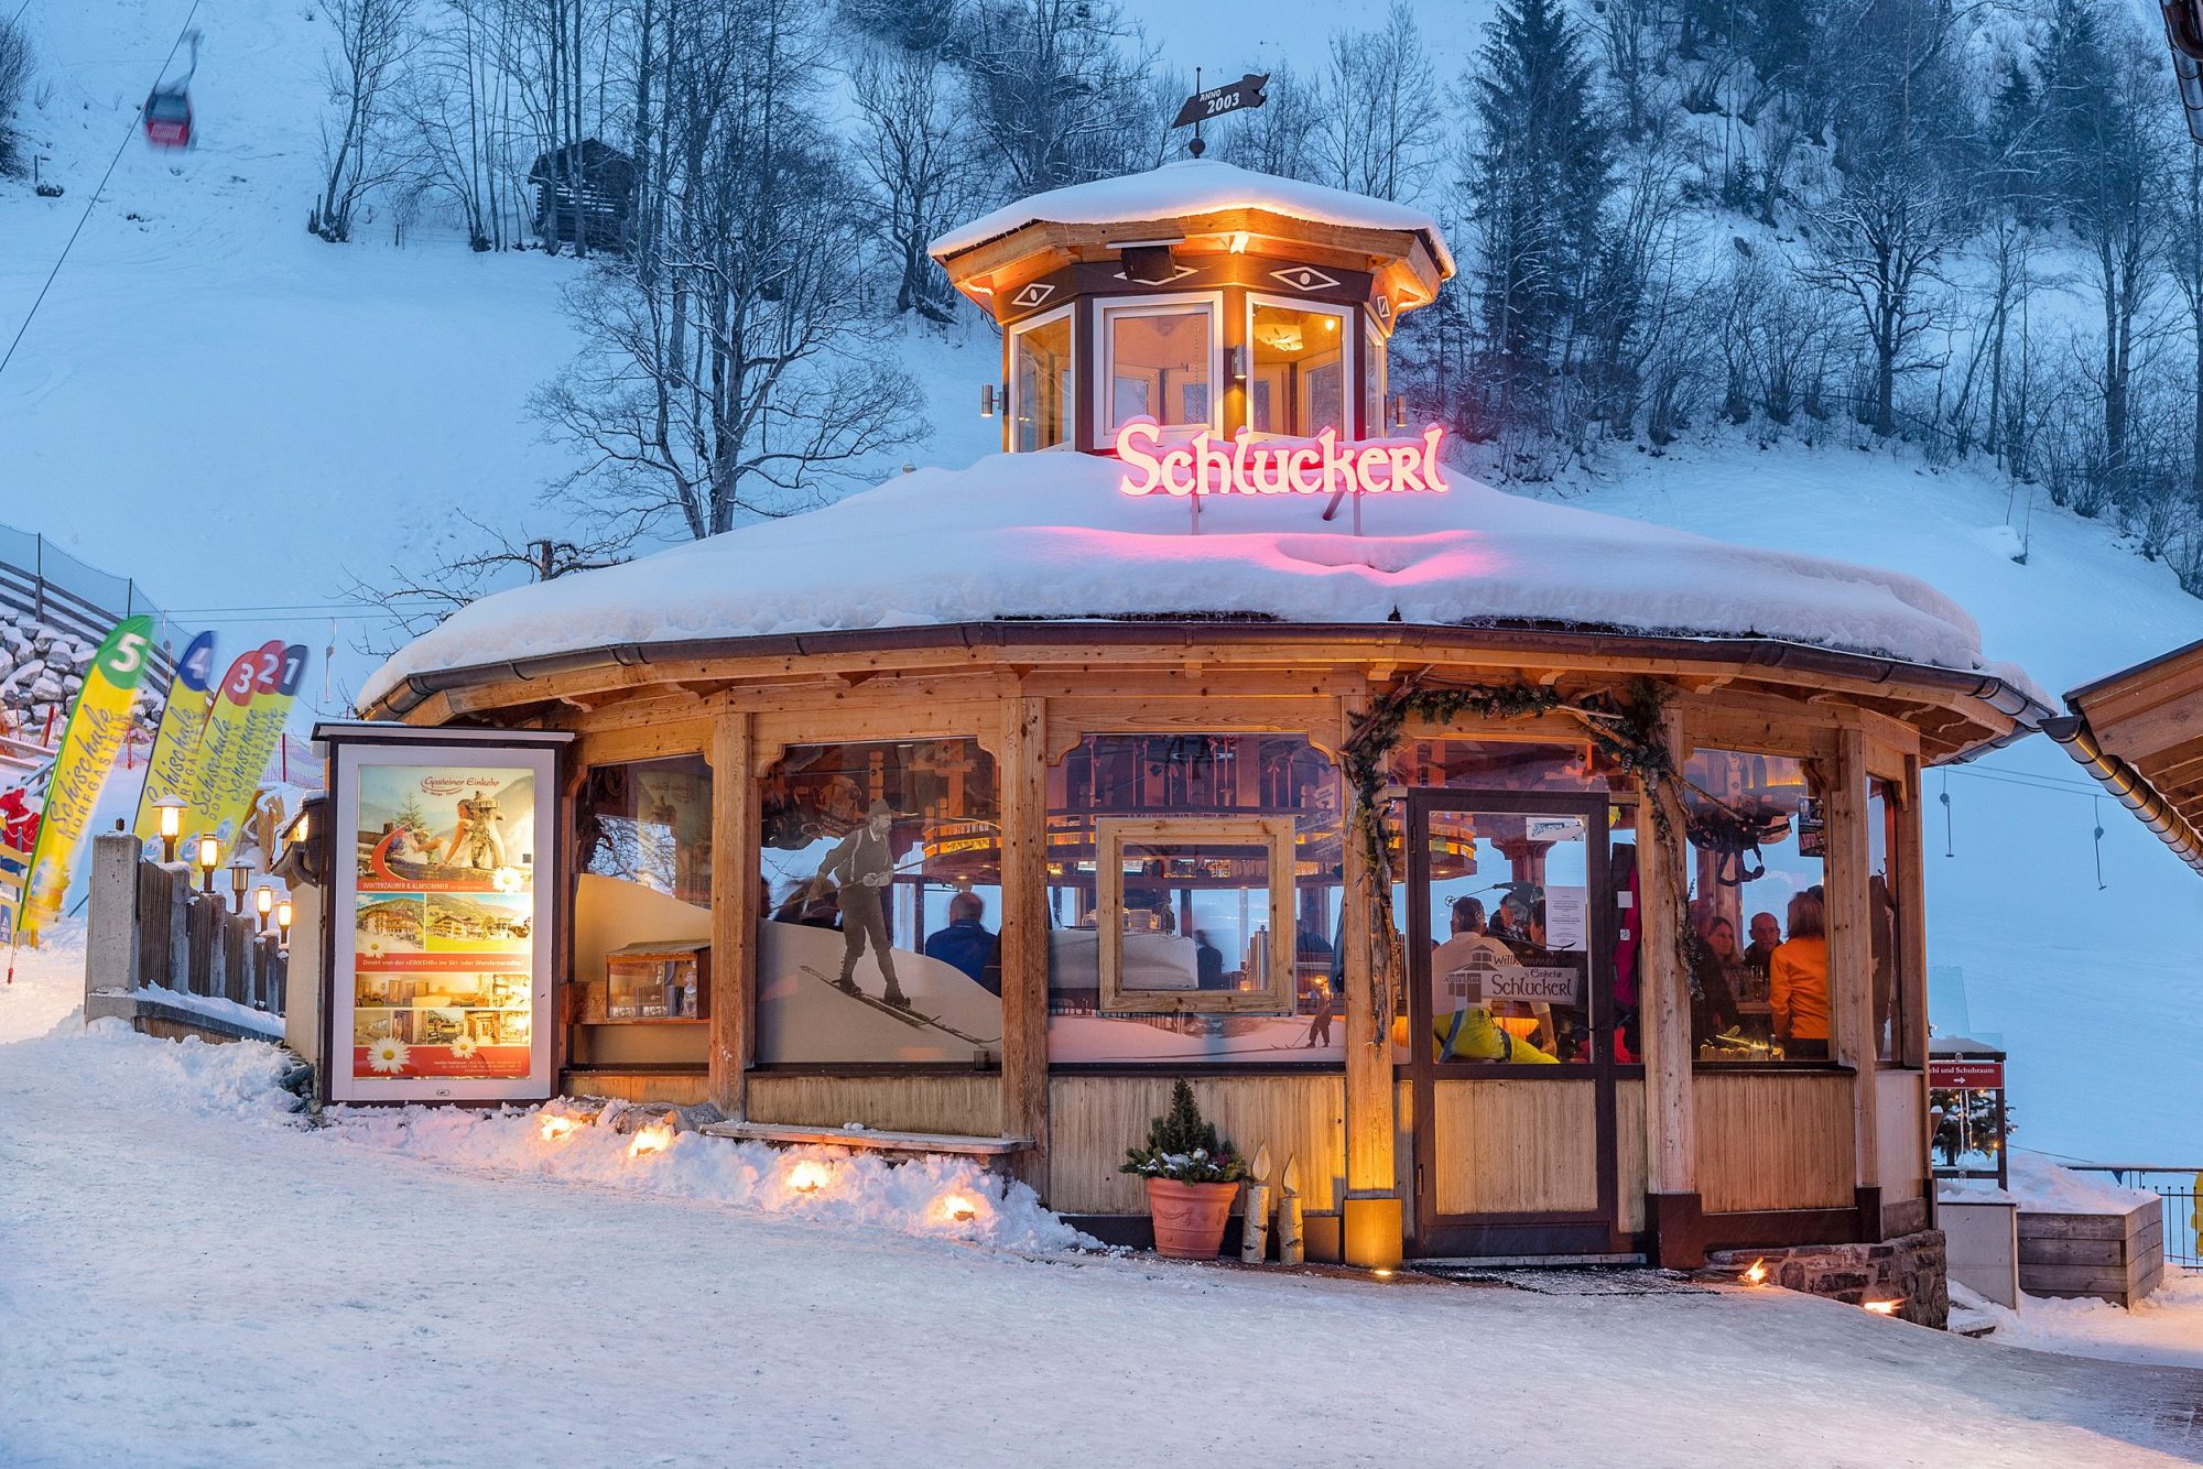
[[[419,37],[412,0],[330,0],[324,13],[337,29],[335,48],[322,53],[333,117],[322,119],[326,183],[308,229],[337,242],[352,238],[359,200],[412,165],[390,101]]]

